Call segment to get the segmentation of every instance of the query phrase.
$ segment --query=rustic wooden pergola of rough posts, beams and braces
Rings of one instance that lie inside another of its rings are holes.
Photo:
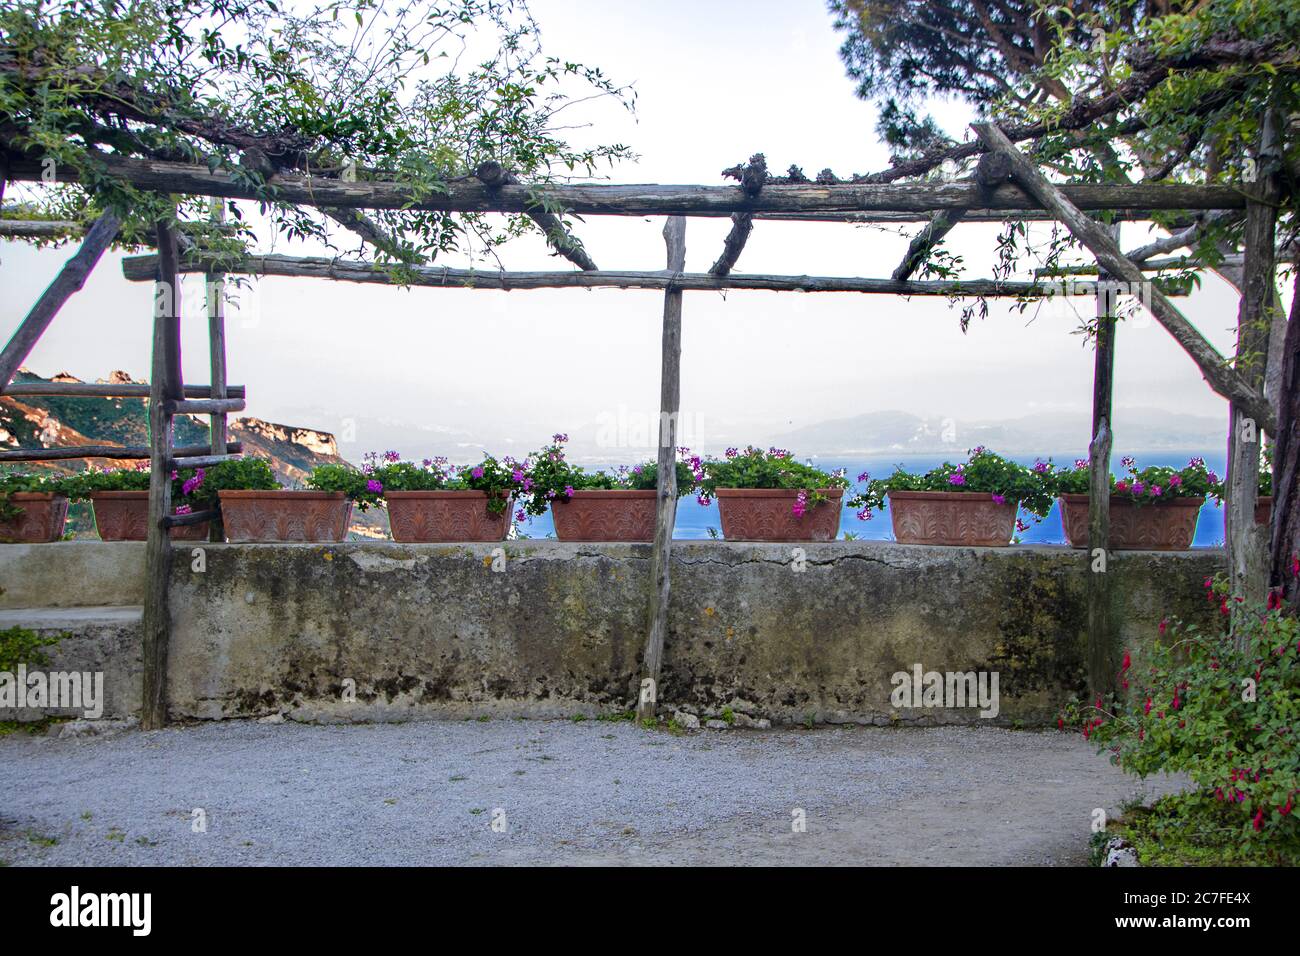
[[[658,522],[653,545],[650,600],[646,620],[638,717],[653,717],[658,679],[667,632],[670,551],[676,515],[676,428],[680,407],[680,359],[682,297],[688,291],[750,289],[771,291],[841,291],[858,294],[1011,297],[1017,299],[1060,293],[1049,277],[1034,281],[996,278],[918,281],[915,271],[927,254],[959,222],[1005,220],[1054,220],[1061,222],[1096,259],[1100,281],[1096,286],[1096,362],[1093,375],[1092,437],[1089,445],[1091,505],[1088,550],[1088,682],[1096,693],[1113,687],[1117,670],[1114,626],[1110,620],[1108,576],[1105,574],[1109,537],[1109,473],[1112,447],[1112,382],[1115,347],[1114,284],[1149,289],[1145,298],[1152,313],[1196,362],[1210,388],[1228,399],[1234,421],[1251,418],[1260,431],[1271,432],[1274,415],[1262,393],[1262,377],[1234,369],[1187,320],[1169,295],[1147,285],[1144,268],[1162,252],[1193,243],[1197,230],[1214,217],[1245,217],[1247,243],[1243,269],[1243,315],[1265,315],[1274,289],[1275,203],[1262,186],[1247,193],[1227,186],[1195,185],[1058,185],[1050,182],[1011,140],[992,124],[975,124],[978,140],[968,144],[970,156],[982,155],[974,176],[962,182],[781,182],[767,176],[762,156],[738,170],[737,186],[624,186],[568,185],[525,186],[498,164],[478,168],[476,181],[456,182],[437,194],[415,194],[396,182],[344,181],[276,173],[266,178],[280,202],[316,208],[363,237],[376,226],[364,209],[417,208],[446,212],[503,212],[530,216],[546,234],[554,251],[578,271],[497,272],[415,267],[395,280],[389,269],[368,261],[260,255],[230,263],[204,258],[182,248],[169,222],[156,229],[156,254],[127,258],[124,273],[129,280],[155,284],[152,375],[148,447],[113,447],[113,458],[148,458],[151,464],[150,531],[147,542],[147,594],[144,605],[144,708],[142,724],[160,727],[166,722],[166,659],[169,641],[168,580],[173,559],[169,528],[205,522],[216,512],[183,516],[172,514],[169,473],[174,468],[200,467],[238,454],[238,444],[226,441],[226,415],[244,407],[242,386],[226,382],[225,326],[221,308],[222,274],[315,277],[350,282],[402,284],[451,289],[558,289],[620,287],[656,289],[664,293]],[[966,147],[963,147],[966,148]],[[260,200],[247,177],[225,170],[177,163],[103,156],[105,172],[138,189],[160,194],[207,195],[222,199]],[[40,178],[39,157],[8,157],[5,178]],[[213,203],[213,216],[221,203]],[[666,216],[664,241],[667,268],[646,272],[603,272],[588,251],[556,219],[543,209],[563,208],[585,216]],[[1105,212],[1113,222],[1141,220],[1154,211],[1179,211],[1190,216],[1183,232],[1124,254],[1118,230],[1098,222],[1092,215]],[[706,273],[686,273],[685,219],[731,217],[732,226],[723,250]],[[803,220],[826,222],[926,222],[911,241],[902,261],[889,278],[744,274],[733,272],[755,220]],[[69,225],[69,224],[65,224]],[[133,395],[146,394],[146,386],[82,384],[10,384],[14,372],[48,326],[58,307],[86,280],[103,251],[112,243],[120,221],[104,213],[91,226],[78,252],[20,325],[0,354],[0,392],[10,395]],[[42,235],[39,229],[16,229],[0,235]],[[48,233],[46,233],[48,234]],[[374,238],[382,238],[376,235]],[[218,271],[220,269],[220,271]],[[179,295],[182,273],[202,272],[208,282],[208,324],[211,385],[185,385],[179,347]],[[1258,277],[1268,281],[1258,281]],[[1252,278],[1253,277],[1253,278]],[[1262,373],[1261,373],[1262,375]],[[176,415],[209,415],[212,441],[207,447],[173,446]],[[56,458],[99,457],[107,446],[72,449],[13,450],[0,460],[52,460]],[[1253,529],[1254,480],[1243,453],[1247,477],[1234,481],[1228,497],[1228,553],[1234,545],[1245,549]],[[1257,455],[1254,460],[1257,468]],[[1235,541],[1234,536],[1239,540]],[[1101,558],[1100,564],[1097,558]]]

